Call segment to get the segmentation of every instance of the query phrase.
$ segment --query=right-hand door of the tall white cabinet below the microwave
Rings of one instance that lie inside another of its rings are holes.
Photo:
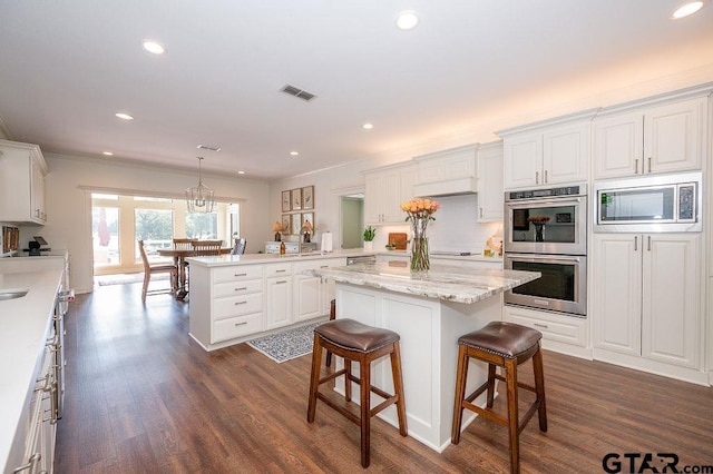
[[[699,368],[701,235],[646,235],[642,355]]]

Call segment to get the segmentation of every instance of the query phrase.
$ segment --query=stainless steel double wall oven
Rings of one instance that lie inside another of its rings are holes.
[[[505,304],[585,317],[587,192],[584,185],[505,195],[505,268],[543,274]]]

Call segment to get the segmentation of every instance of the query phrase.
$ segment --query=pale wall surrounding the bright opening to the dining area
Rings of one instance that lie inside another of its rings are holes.
[[[197,175],[155,166],[102,162],[100,160],[45,155],[49,167],[46,179],[48,220],[45,226],[20,227],[21,246],[33,235],[42,235],[52,248],[69,250],[71,286],[77,292],[92,287],[91,203],[80,187],[130,189],[157,194],[183,195],[195,186]],[[216,197],[241,201],[241,233],[248,251],[262,249],[272,239],[268,210],[268,185],[264,181],[225,178],[204,172],[204,182]]]

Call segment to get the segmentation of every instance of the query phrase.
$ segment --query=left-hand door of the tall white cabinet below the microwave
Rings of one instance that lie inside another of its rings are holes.
[[[642,236],[594,236],[592,325],[595,348],[641,355]]]

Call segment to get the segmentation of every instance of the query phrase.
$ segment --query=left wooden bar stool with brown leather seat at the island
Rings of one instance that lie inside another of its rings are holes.
[[[314,328],[307,423],[314,422],[316,401],[319,398],[359,425],[361,427],[361,465],[363,467],[369,467],[372,416],[395,403],[399,417],[399,433],[401,433],[401,436],[408,435],[399,339],[399,334],[393,330],[367,326],[353,319],[334,319]],[[343,357],[344,368],[320,378],[323,348]],[[371,363],[387,355],[391,357],[393,395],[371,385]],[[359,363],[359,377],[352,375],[352,362]],[[332,402],[319,391],[320,385],[342,375],[344,375],[344,398],[348,403],[352,399],[351,383],[354,382],[360,385],[361,416],[359,417],[348,411],[345,406]],[[384,402],[374,408],[371,408],[371,392],[384,398]]]

